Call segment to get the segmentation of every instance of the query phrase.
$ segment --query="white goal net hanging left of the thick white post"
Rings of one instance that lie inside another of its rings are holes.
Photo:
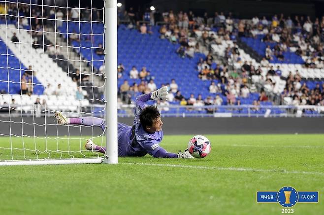
[[[105,8],[68,2],[0,1],[0,165],[101,162],[105,129],[54,117],[105,119]]]

